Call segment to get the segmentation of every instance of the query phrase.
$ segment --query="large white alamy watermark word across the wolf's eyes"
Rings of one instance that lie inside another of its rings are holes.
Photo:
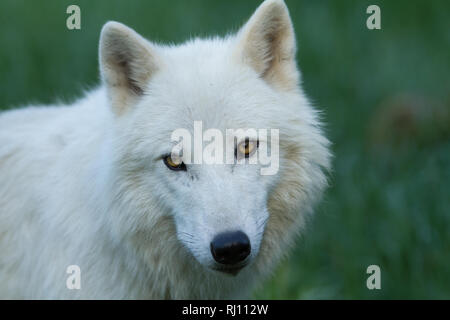
[[[268,129],[226,129],[224,136],[219,129],[203,131],[202,121],[194,121],[194,137],[180,128],[172,132],[171,141],[172,158],[185,164],[260,165],[261,175],[275,175],[279,169],[278,129],[270,129],[270,134]]]

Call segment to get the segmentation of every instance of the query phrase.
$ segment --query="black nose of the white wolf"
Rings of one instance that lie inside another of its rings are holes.
[[[224,232],[211,242],[211,253],[218,263],[231,265],[250,254],[250,240],[242,231]]]

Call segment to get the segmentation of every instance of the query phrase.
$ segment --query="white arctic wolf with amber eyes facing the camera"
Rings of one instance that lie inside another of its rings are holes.
[[[83,99],[0,115],[0,298],[248,297],[329,167],[284,2],[180,46],[108,22],[99,52],[103,84]],[[278,172],[171,159],[171,133],[194,121],[279,129]]]

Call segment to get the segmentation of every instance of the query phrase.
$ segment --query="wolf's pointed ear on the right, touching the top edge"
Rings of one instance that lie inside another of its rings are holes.
[[[237,55],[278,89],[297,88],[295,34],[282,0],[266,0],[238,33]]]

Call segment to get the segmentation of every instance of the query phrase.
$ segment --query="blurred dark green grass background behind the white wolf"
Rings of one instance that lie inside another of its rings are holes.
[[[108,20],[176,43],[237,30],[258,3],[2,0],[0,108],[72,100],[97,84]],[[449,299],[450,2],[379,0],[380,31],[365,26],[372,1],[286,3],[334,172],[298,246],[254,297]],[[70,4],[81,30],[65,27]],[[366,288],[371,264],[382,290]]]

